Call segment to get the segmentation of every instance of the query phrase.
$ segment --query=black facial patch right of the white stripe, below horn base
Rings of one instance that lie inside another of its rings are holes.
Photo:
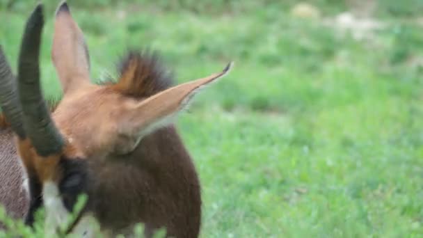
[[[58,184],[63,205],[72,212],[78,196],[88,191],[88,169],[83,159],[61,159],[63,177]]]

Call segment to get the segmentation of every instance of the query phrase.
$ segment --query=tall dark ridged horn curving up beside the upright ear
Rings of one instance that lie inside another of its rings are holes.
[[[63,137],[51,120],[40,86],[40,41],[44,17],[42,4],[26,22],[18,61],[19,98],[24,112],[24,128],[41,156],[61,152]]]

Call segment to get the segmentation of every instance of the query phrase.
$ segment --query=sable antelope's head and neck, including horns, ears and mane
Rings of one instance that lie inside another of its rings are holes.
[[[88,202],[70,232],[93,216],[105,234],[144,223],[145,235],[166,228],[173,237],[198,237],[200,182],[173,119],[195,93],[223,72],[171,86],[155,54],[130,52],[120,77],[90,84],[88,48],[67,3],[56,10],[51,58],[63,89],[54,112],[40,89],[42,4],[26,22],[15,77],[0,47],[0,104],[16,137],[28,177],[29,207],[46,210],[46,225],[66,220],[81,193]]]

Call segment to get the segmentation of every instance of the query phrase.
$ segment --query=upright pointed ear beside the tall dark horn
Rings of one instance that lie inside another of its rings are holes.
[[[83,33],[64,1],[56,10],[51,59],[61,80],[63,93],[90,81],[90,57]]]

